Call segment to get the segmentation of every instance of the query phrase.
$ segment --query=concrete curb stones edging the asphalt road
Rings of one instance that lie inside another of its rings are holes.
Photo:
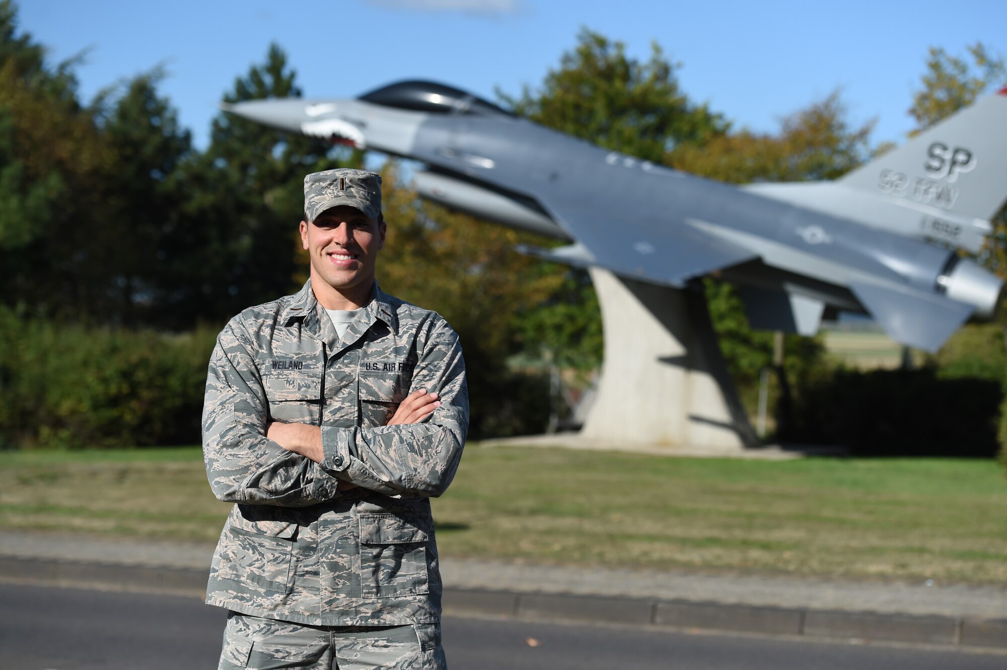
[[[206,570],[0,556],[0,581],[201,597]],[[444,613],[524,621],[1007,650],[1007,619],[446,589]]]

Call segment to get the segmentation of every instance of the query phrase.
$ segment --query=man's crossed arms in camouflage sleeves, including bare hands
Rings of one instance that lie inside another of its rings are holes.
[[[329,500],[348,482],[389,496],[440,495],[464,444],[468,395],[457,336],[443,322],[426,335],[413,382],[436,393],[410,394],[388,425],[268,424],[268,398],[249,345],[256,338],[234,319],[210,359],[203,406],[214,495],[296,507]]]

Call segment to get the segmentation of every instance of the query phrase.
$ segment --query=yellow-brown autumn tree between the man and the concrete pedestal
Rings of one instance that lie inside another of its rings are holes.
[[[541,239],[422,202],[400,182],[395,163],[382,174],[388,241],[381,286],[440,313],[458,333],[468,371],[469,435],[542,432],[550,409],[547,382],[508,361],[528,346],[521,315],[557,292],[562,273],[513,250]]]

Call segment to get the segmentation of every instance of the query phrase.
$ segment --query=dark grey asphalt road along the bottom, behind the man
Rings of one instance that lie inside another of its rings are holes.
[[[214,668],[224,622],[192,598],[0,584],[0,668]],[[452,670],[1007,667],[1002,655],[463,618],[445,619],[444,645]]]

